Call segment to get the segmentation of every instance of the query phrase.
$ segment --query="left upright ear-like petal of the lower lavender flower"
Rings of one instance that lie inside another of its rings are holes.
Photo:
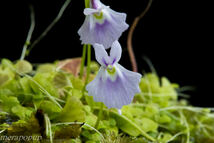
[[[96,60],[102,65],[102,66],[108,66],[109,64],[109,56],[106,52],[105,48],[101,44],[94,44],[94,50],[95,50],[95,56]]]

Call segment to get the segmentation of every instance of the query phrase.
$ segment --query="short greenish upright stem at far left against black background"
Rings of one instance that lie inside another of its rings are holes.
[[[22,54],[21,54],[20,60],[24,60],[24,58],[25,58],[26,51],[27,51],[28,46],[30,45],[30,40],[31,40],[33,31],[34,31],[34,28],[35,28],[34,9],[33,9],[32,5],[30,5],[29,8],[30,8],[30,13],[31,13],[30,14],[31,25],[30,25],[30,29],[28,31],[27,39],[26,39],[25,44],[24,44],[23,49],[22,49]]]

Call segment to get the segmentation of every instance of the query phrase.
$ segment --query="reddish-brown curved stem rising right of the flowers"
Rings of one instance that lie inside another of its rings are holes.
[[[128,33],[128,39],[127,39],[128,47],[127,48],[128,48],[128,52],[129,52],[129,56],[130,56],[130,60],[131,60],[131,64],[132,64],[132,70],[134,72],[138,71],[138,67],[137,67],[137,62],[136,62],[136,58],[135,58],[133,47],[132,47],[132,37],[133,37],[133,33],[135,31],[135,28],[137,27],[138,22],[148,12],[149,8],[151,7],[151,4],[152,4],[152,0],[149,0],[146,9],[138,17],[135,18],[134,22],[132,23],[132,26],[130,27],[129,33]]]

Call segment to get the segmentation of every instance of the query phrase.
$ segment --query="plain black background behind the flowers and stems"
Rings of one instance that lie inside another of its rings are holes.
[[[145,8],[148,0],[102,0],[116,11],[127,13],[127,23]],[[17,60],[30,26],[29,4],[35,8],[35,40],[57,15],[64,0],[0,1],[0,58]],[[197,0],[153,0],[133,37],[139,72],[149,72],[143,60],[148,57],[160,76],[181,86],[194,86],[191,103],[213,103],[213,14],[211,4]],[[26,59],[33,63],[53,62],[81,56],[77,30],[84,21],[84,0],[72,0],[62,19]],[[120,63],[131,69],[126,48],[127,31],[120,38],[123,56]],[[212,40],[212,41],[211,41]]]

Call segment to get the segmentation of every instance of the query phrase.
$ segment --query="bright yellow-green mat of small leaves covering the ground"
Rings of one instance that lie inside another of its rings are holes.
[[[0,137],[42,137],[28,142],[214,143],[212,109],[179,100],[179,85],[166,77],[145,74],[141,93],[120,115],[88,96],[84,77],[57,65],[33,68],[27,61],[1,61]],[[91,80],[99,69],[92,65]]]

